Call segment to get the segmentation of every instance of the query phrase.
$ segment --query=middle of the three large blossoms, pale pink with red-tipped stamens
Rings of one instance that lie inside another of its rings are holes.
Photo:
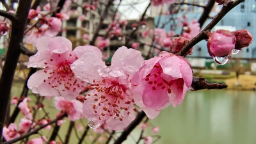
[[[88,86],[91,91],[84,100],[84,116],[97,124],[106,122],[109,129],[127,127],[134,120],[136,110],[129,84],[142,62],[141,52],[127,47],[115,52],[111,67],[92,54],[84,54],[75,61],[72,70],[76,76],[91,83]]]

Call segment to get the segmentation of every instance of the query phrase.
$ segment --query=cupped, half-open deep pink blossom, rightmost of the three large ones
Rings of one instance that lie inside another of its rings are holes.
[[[135,103],[148,118],[156,117],[161,109],[179,105],[192,83],[192,70],[184,58],[169,52],[143,63],[131,80]]]

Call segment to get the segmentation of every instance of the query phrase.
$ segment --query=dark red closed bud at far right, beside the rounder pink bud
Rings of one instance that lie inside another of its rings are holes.
[[[252,35],[246,29],[232,31],[231,33],[236,36],[235,49],[242,49],[243,47],[248,47],[252,43]]]

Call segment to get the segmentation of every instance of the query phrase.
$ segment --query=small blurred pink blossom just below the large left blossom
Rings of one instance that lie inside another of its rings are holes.
[[[67,113],[68,118],[72,121],[79,120],[83,117],[83,103],[79,100],[65,100],[63,97],[55,97],[56,109]]]

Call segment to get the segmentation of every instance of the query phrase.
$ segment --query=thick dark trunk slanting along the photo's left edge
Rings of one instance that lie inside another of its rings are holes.
[[[13,76],[19,61],[20,47],[24,36],[24,28],[28,19],[28,12],[32,0],[20,0],[16,11],[16,18],[12,21],[12,32],[10,35],[10,43],[6,52],[3,72],[0,79],[0,138],[2,137],[4,118],[6,116],[6,109],[10,99],[10,92],[12,89]]]

